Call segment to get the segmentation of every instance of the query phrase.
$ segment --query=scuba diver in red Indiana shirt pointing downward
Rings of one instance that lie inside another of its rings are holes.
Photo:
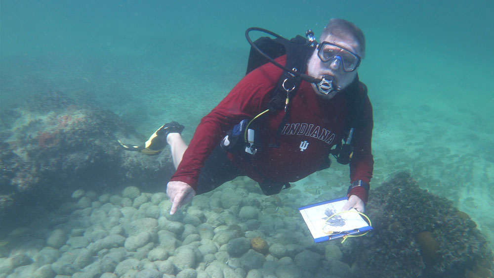
[[[252,42],[251,31],[277,38]],[[343,210],[364,212],[373,120],[367,88],[357,75],[365,56],[362,30],[333,18],[319,44],[310,30],[306,38],[286,40],[249,28],[246,37],[252,46],[247,75],[201,120],[189,145],[181,137],[184,127],[171,122],[142,146],[122,146],[153,155],[170,145],[176,168],[166,185],[170,214],[239,176],[258,182],[266,195],[279,193],[327,169],[329,155],[350,166]]]

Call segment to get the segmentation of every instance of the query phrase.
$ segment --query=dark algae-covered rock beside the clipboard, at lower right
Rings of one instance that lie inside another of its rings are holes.
[[[464,278],[479,265],[493,267],[475,223],[451,201],[420,189],[410,174],[397,174],[370,196],[366,213],[374,230],[342,245],[355,276]]]

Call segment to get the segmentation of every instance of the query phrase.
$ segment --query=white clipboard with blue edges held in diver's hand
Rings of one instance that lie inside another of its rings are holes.
[[[340,212],[347,200],[346,197],[341,197],[298,208],[314,242],[359,235],[372,230],[369,223],[353,208],[348,213],[330,217]]]

